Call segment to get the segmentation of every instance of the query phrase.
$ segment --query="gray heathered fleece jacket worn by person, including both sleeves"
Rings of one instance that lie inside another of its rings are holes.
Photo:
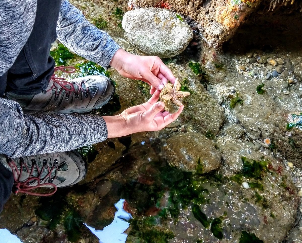
[[[0,77],[12,66],[29,38],[36,0],[0,0]],[[62,0],[57,38],[70,50],[107,67],[120,48]],[[11,157],[68,151],[104,141],[107,127],[97,115],[23,114],[20,105],[0,98],[0,154]]]

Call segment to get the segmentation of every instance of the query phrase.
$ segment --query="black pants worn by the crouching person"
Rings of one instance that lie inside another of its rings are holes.
[[[37,1],[31,35],[12,67],[0,77],[0,97],[8,91],[31,95],[46,89],[55,67],[49,52],[51,43],[56,40],[60,7],[61,0]],[[12,172],[0,163],[0,212],[11,194],[13,183]]]

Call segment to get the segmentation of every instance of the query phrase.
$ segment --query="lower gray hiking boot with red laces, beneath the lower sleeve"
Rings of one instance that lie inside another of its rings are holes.
[[[18,158],[0,155],[0,163],[13,173],[15,194],[53,195],[57,187],[71,186],[82,180],[87,172],[86,161],[74,150]],[[53,188],[53,191],[43,194],[30,191],[39,187]]]

